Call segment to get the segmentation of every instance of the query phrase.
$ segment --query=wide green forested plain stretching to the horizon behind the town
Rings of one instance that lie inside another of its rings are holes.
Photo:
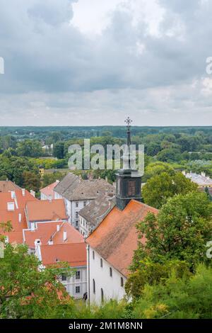
[[[90,146],[122,145],[126,126],[0,127],[0,180],[10,179],[38,194],[42,186],[69,171],[69,146],[78,144],[83,149],[84,138],[90,138]],[[132,126],[131,142],[144,145],[143,183],[153,176],[154,168],[205,172],[212,177],[212,126]],[[45,170],[44,176],[40,169]],[[85,179],[90,172],[112,183],[116,170],[80,172]]]

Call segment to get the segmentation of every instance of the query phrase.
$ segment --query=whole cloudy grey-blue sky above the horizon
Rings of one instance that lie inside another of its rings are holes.
[[[1,125],[212,125],[211,0],[0,0]]]

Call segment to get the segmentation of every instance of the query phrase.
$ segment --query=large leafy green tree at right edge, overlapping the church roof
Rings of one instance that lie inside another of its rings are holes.
[[[204,193],[170,198],[158,215],[148,213],[137,225],[139,239],[126,292],[139,298],[146,284],[165,283],[173,269],[177,278],[189,276],[199,263],[210,264],[206,243],[211,240],[212,204]],[[190,273],[189,273],[190,272]]]

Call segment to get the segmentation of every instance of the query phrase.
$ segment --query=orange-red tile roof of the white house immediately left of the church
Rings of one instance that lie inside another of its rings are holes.
[[[86,244],[41,245],[42,264],[44,266],[66,261],[71,267],[86,266]]]

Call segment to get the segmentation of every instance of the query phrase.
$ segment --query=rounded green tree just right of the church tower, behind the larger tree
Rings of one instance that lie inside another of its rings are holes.
[[[191,191],[197,191],[197,185],[190,179],[185,178],[181,172],[172,175],[167,172],[161,172],[151,179],[148,179],[143,186],[142,196],[147,205],[160,208],[167,202],[167,199],[175,194],[186,194]]]

